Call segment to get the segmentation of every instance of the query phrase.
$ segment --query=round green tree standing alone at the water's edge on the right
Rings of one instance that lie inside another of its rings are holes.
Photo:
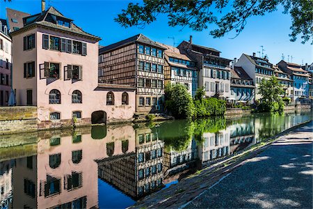
[[[269,111],[271,113],[284,111],[284,102],[281,95],[284,94],[282,85],[279,84],[277,77],[272,76],[270,79],[262,79],[257,88],[262,95],[259,111]]]

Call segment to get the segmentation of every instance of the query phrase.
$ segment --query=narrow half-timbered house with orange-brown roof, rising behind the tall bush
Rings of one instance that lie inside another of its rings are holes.
[[[176,47],[169,45],[159,45],[166,48],[164,80],[165,84],[182,84],[186,86],[191,96],[195,95],[198,89],[198,70],[195,68],[195,62],[179,52]]]

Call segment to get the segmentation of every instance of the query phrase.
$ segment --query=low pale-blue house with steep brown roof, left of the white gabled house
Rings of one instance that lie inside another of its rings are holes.
[[[241,67],[230,70],[230,95],[235,102],[252,104],[255,100],[255,85],[253,80]]]

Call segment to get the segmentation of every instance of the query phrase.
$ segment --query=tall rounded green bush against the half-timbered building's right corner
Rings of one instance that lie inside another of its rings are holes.
[[[182,84],[166,85],[166,108],[175,118],[192,118],[194,114],[193,99]]]

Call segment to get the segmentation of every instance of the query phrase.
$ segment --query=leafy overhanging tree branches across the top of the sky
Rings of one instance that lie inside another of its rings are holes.
[[[145,26],[157,20],[157,15],[166,14],[169,26],[188,26],[194,31],[203,31],[209,24],[216,24],[218,28],[210,34],[220,38],[230,31],[236,31],[238,36],[248,17],[263,16],[277,10],[278,6],[283,6],[284,13],[291,15],[291,41],[296,41],[297,36],[303,43],[312,39],[312,0],[143,0],[143,5],[129,3],[115,21],[125,27]]]

